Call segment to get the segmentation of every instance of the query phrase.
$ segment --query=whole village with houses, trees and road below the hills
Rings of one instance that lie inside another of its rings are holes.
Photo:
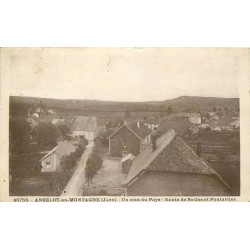
[[[236,196],[239,110],[10,113],[12,196]],[[108,114],[108,115],[107,115]]]

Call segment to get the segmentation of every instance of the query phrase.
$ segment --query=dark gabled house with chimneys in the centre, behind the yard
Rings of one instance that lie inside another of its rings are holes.
[[[150,144],[151,131],[141,122],[124,123],[108,137],[110,157],[138,155],[141,144]]]

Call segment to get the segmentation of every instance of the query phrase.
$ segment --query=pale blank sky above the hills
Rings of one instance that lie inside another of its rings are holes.
[[[242,49],[9,49],[10,95],[158,101],[239,97]]]

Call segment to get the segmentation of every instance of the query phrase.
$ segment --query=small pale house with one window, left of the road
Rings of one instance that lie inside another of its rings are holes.
[[[60,171],[62,157],[70,155],[76,149],[77,146],[70,141],[63,141],[58,144],[40,160],[42,173]]]

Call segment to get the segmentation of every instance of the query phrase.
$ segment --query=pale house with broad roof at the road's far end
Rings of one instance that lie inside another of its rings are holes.
[[[76,116],[70,125],[70,135],[74,138],[84,136],[88,141],[96,138],[97,122],[95,116]]]

